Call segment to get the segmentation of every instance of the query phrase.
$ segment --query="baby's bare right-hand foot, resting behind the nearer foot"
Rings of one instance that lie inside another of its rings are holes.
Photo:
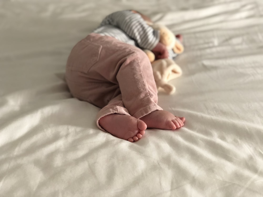
[[[174,116],[168,111],[156,110],[143,117],[140,120],[144,121],[148,128],[157,129],[176,129],[184,126],[185,118]]]

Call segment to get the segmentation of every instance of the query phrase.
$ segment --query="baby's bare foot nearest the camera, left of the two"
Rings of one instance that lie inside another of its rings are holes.
[[[100,118],[99,125],[110,134],[129,142],[140,139],[147,128],[142,120],[117,113]]]

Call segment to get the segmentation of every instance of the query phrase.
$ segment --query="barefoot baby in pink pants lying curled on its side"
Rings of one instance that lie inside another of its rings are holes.
[[[129,142],[141,138],[146,128],[174,130],[185,122],[157,105],[153,70],[141,49],[153,51],[157,59],[169,53],[147,21],[136,11],[114,12],[73,47],[67,61],[71,94],[102,108],[97,126]]]

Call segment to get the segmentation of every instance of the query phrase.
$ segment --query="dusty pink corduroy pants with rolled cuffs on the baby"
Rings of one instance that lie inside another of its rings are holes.
[[[66,81],[71,94],[102,108],[97,115],[119,113],[141,118],[155,110],[157,89],[146,54],[115,38],[90,34],[72,49]]]

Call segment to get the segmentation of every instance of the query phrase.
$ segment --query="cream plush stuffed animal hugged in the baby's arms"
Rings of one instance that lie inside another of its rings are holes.
[[[177,41],[175,35],[164,25],[151,24],[154,29],[160,31],[160,42],[163,43],[168,50],[180,54],[184,51],[184,46]],[[167,94],[175,92],[175,86],[168,82],[182,75],[182,70],[172,59],[155,60],[155,55],[150,50],[144,50],[153,67],[153,75],[158,90],[163,89]]]

